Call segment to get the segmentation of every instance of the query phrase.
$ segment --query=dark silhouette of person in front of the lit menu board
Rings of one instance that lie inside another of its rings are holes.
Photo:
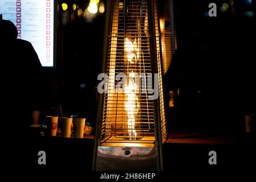
[[[32,44],[16,39],[17,35],[12,22],[1,20],[1,57],[8,69],[6,89],[9,101],[12,101],[9,104],[19,108],[20,119],[27,120],[17,124],[29,126],[32,111],[42,109],[42,65]]]

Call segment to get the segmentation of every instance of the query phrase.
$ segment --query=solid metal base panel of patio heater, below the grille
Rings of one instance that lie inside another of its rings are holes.
[[[98,147],[97,171],[156,171],[158,166],[156,147]]]

